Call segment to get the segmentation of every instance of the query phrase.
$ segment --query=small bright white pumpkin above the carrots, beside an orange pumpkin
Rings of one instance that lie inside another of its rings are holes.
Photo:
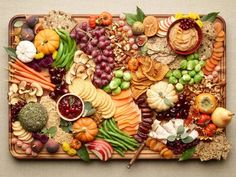
[[[29,63],[34,59],[36,48],[30,41],[20,41],[16,47],[16,55],[19,60]]]

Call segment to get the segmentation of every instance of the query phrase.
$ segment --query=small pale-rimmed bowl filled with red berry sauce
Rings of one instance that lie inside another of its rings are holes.
[[[57,101],[57,112],[66,121],[79,119],[84,112],[83,100],[72,93],[67,93]]]

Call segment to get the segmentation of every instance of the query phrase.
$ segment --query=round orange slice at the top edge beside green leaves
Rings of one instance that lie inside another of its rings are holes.
[[[148,37],[154,36],[159,28],[157,18],[154,16],[147,16],[143,20],[144,34]]]

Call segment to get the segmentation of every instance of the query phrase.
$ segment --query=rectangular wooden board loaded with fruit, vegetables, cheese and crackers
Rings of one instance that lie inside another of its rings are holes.
[[[185,160],[187,150],[193,150],[191,159],[224,158],[223,152],[199,152],[212,151],[204,143],[210,147],[225,138],[225,125],[214,115],[226,106],[224,19],[109,15],[52,11],[10,20],[11,154],[84,160],[88,152],[90,159],[132,159],[146,143],[137,159]]]

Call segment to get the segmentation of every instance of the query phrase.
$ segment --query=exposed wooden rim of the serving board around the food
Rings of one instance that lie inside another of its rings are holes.
[[[32,15],[32,14],[27,14],[27,15]],[[42,18],[44,15],[46,14],[35,14],[37,16],[39,16],[40,18]],[[173,14],[151,14],[157,18],[167,18]],[[19,14],[19,15],[15,15],[14,17],[11,18],[11,20],[9,21],[9,25],[8,25],[8,45],[11,46],[13,43],[13,37],[11,35],[11,32],[13,30],[13,24],[16,21],[25,20],[25,16],[23,14]],[[74,14],[72,15],[72,17],[79,21],[85,21],[86,19],[88,19],[90,15],[79,15],[79,14]],[[118,18],[118,15],[114,15],[113,16],[115,19]],[[224,31],[226,34],[226,23],[225,20],[222,17],[217,17],[216,21],[219,21],[220,23],[223,24],[224,27]],[[224,41],[224,56],[222,58],[222,60],[220,61],[220,67],[221,67],[221,72],[220,72],[220,80],[225,80],[226,82],[226,35],[225,35],[225,41]],[[226,106],[226,87],[221,87],[221,93],[224,96],[223,101],[221,102],[221,106],[225,107]],[[8,133],[8,141],[9,141],[9,151],[11,153],[11,155],[17,159],[80,159],[78,156],[74,156],[74,157],[70,157],[68,156],[66,153],[64,153],[62,151],[62,149],[59,149],[59,151],[56,154],[49,154],[45,149],[43,149],[40,154],[38,154],[37,157],[32,157],[32,156],[28,156],[26,155],[20,148],[18,148],[15,145],[12,145],[11,143],[11,139],[13,137],[12,131],[11,131],[11,112],[10,112],[10,106],[8,109],[9,112],[9,133]],[[136,151],[128,151],[125,153],[124,157],[121,157],[117,152],[114,151],[113,155],[112,155],[112,159],[131,159]],[[90,159],[98,159],[94,154],[89,153]],[[174,157],[172,159],[178,159],[179,155],[174,155]],[[193,156],[192,159],[198,159],[199,157],[197,156]],[[163,159],[158,153],[153,152],[147,148],[144,148],[144,150],[142,150],[141,154],[139,155],[138,159]]]

